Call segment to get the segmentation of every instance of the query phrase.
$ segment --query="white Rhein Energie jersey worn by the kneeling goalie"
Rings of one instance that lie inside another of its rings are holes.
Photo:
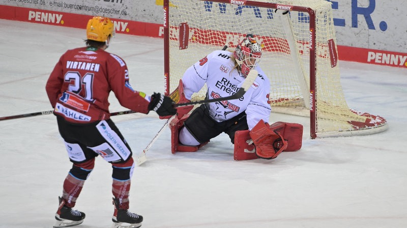
[[[235,68],[235,62],[228,51],[214,51],[189,67],[182,78],[187,99],[207,84],[207,99],[226,97],[235,94],[242,86],[245,77]],[[260,120],[269,122],[270,82],[259,66],[257,78],[250,89],[240,99],[218,101],[206,104],[211,117],[223,122],[246,111],[247,125],[251,130]]]

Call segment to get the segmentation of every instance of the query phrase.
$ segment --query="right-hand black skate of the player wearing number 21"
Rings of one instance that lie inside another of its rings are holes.
[[[114,213],[112,217],[113,225],[111,228],[137,228],[141,226],[143,216],[131,213],[128,210],[119,209],[119,200],[113,198]],[[123,224],[129,223],[129,224]]]

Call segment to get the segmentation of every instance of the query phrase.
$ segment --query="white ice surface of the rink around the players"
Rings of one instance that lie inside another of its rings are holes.
[[[0,20],[0,117],[51,110],[45,83],[85,30]],[[340,43],[338,41],[338,43]],[[125,59],[130,83],[163,92],[163,40],[117,34],[107,51]],[[339,53],[340,54],[340,53]],[[310,139],[309,120],[272,113],[270,123],[304,125],[301,150],[274,160],[234,161],[227,135],[196,153],[170,152],[166,128],[137,166],[130,211],[142,227],[407,227],[407,70],[339,62],[349,107],[388,121],[385,132]],[[127,110],[113,94],[110,111]],[[114,116],[137,158],[165,120]],[[0,227],[52,227],[71,167],[53,115],[0,121]],[[97,158],[75,209],[75,227],[110,227],[111,166]]]

